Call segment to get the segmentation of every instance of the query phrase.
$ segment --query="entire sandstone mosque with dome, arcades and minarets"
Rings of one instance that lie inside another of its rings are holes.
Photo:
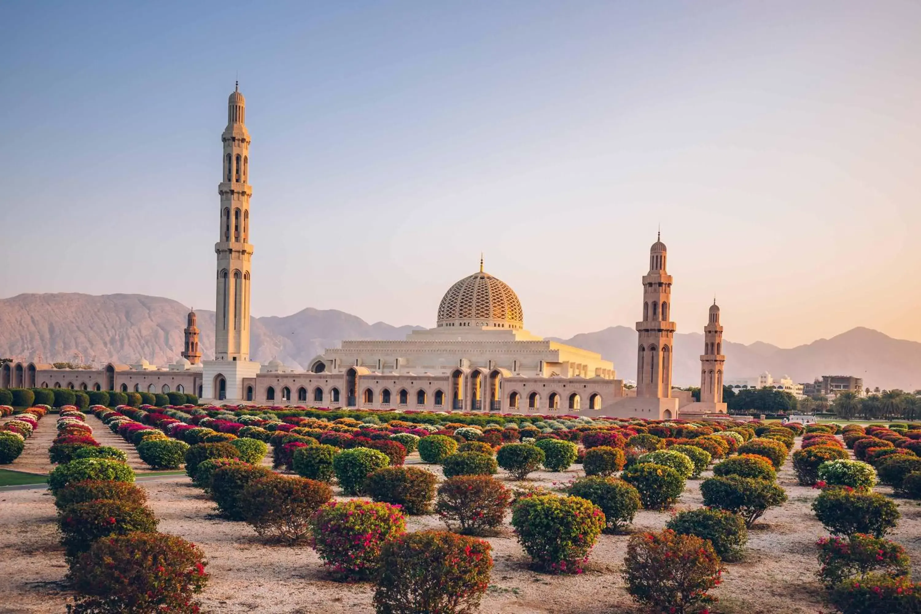
[[[433,329],[403,341],[344,341],[294,371],[250,360],[250,133],[239,87],[227,102],[217,186],[215,359],[201,360],[195,314],[182,358],[167,369],[106,365],[64,373],[51,365],[4,365],[0,386],[122,391],[195,391],[216,403],[314,405],[356,409],[496,411],[668,420],[681,413],[725,414],[719,307],[709,308],[701,354],[701,397],[672,388],[675,322],[671,275],[661,240],[649,250],[642,320],[636,322],[636,387],[627,389],[600,354],[542,339],[525,329],[524,310],[508,284],[480,270],[449,287]],[[434,306],[433,306],[434,307]],[[75,385],[75,378],[78,383]]]

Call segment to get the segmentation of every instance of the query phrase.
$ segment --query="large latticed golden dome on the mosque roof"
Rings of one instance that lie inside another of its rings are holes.
[[[438,327],[520,329],[523,324],[515,291],[482,270],[452,285],[438,306]]]

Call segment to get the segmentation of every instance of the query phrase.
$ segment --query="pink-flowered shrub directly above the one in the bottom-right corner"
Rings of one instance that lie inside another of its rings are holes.
[[[845,580],[862,581],[868,573],[907,576],[908,555],[899,544],[888,539],[855,533],[847,538],[819,540],[819,579],[827,588]]]

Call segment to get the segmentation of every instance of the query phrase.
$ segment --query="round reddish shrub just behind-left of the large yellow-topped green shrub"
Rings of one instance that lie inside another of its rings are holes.
[[[457,523],[461,533],[483,535],[502,524],[511,492],[488,475],[461,475],[438,487],[435,511],[448,528]]]

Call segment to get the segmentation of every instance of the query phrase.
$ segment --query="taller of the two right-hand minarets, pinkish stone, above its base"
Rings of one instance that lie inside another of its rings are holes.
[[[669,319],[671,275],[665,269],[667,249],[660,239],[661,234],[649,249],[649,272],[643,275],[643,320],[636,322],[636,330],[639,332],[636,360],[637,398],[671,397],[671,357],[675,323]]]

